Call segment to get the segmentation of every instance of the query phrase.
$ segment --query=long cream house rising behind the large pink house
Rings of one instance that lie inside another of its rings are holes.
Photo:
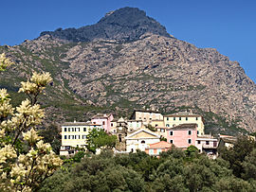
[[[179,112],[164,115],[164,125],[167,128],[174,128],[180,124],[197,124],[197,134],[203,135],[205,132],[204,118],[200,114],[192,112]]]

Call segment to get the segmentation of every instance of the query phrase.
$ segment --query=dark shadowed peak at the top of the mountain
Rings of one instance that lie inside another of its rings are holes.
[[[110,11],[92,26],[58,28],[55,31],[44,31],[40,36],[48,34],[54,39],[69,42],[91,42],[96,39],[136,41],[145,33],[171,37],[164,26],[137,8]]]

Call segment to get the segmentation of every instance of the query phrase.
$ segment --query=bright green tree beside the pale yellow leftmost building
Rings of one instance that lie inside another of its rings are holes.
[[[97,148],[115,148],[117,143],[116,135],[108,135],[105,131],[93,129],[87,135],[86,148],[93,153],[96,153]]]

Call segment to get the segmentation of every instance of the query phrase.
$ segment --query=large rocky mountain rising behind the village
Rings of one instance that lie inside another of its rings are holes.
[[[15,93],[21,80],[32,71],[51,73],[53,85],[41,98],[49,122],[155,108],[201,113],[211,132],[256,131],[256,85],[239,63],[177,40],[139,9],[111,11],[92,26],[45,31],[0,52],[16,62],[0,77],[14,104],[24,98]]]

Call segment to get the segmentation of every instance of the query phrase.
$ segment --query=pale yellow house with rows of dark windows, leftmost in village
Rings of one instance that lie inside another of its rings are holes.
[[[102,125],[91,122],[66,122],[62,125],[60,155],[74,153],[74,148],[85,148],[86,137],[92,129],[102,130]]]

